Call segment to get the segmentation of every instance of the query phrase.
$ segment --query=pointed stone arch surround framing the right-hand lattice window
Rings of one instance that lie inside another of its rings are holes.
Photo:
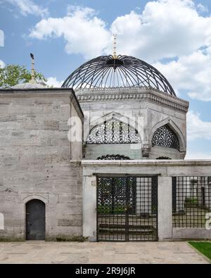
[[[181,132],[181,129],[179,129],[179,127],[170,118],[166,118],[165,120],[162,120],[153,126],[152,132],[151,132],[151,138],[150,138],[151,142],[153,142],[153,136],[155,136],[155,132],[156,131],[159,132],[158,129],[160,129],[161,127],[164,127],[164,128],[166,127],[170,131],[169,136],[172,137],[172,139],[173,139],[174,134],[177,136],[177,139],[179,141],[179,146],[177,146],[177,142],[175,142],[177,147],[173,148],[173,149],[178,149],[179,151],[186,151],[186,140],[184,138],[184,134]],[[175,141],[177,141],[176,138],[174,138],[174,139],[175,139]],[[170,144],[170,142],[169,142],[169,144]]]

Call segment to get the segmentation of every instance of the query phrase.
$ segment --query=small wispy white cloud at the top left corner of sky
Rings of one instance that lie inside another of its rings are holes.
[[[47,8],[42,8],[37,4],[34,4],[32,0],[6,0],[8,3],[13,4],[13,6],[18,7],[20,13],[23,15],[40,15],[47,16],[49,11]]]

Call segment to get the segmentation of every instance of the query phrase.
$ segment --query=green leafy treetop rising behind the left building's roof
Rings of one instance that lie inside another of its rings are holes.
[[[4,68],[0,66],[0,88],[8,89],[16,84],[29,82],[31,79],[30,71],[23,65],[6,65]],[[37,82],[47,81],[42,73],[35,70],[34,79]]]

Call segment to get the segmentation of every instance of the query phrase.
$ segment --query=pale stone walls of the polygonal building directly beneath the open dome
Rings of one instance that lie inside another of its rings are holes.
[[[186,113],[188,102],[175,96],[150,89],[82,89],[76,92],[84,111],[84,141],[89,131],[104,120],[114,117],[136,128],[141,138],[141,146],[99,145],[98,154],[121,154],[134,159],[155,159],[160,156],[172,159],[184,158],[186,154]],[[153,133],[162,125],[170,125],[177,134],[180,149],[157,148],[151,146]],[[118,148],[115,152],[115,149]],[[124,152],[125,149],[125,152]],[[130,149],[130,150],[129,150]],[[108,153],[112,151],[112,153]],[[130,156],[129,156],[130,157]],[[87,145],[85,159],[96,159],[93,146]]]

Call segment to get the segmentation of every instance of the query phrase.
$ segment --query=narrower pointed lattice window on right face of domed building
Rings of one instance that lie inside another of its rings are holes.
[[[153,134],[152,146],[164,146],[179,151],[179,139],[168,125],[163,125]]]

